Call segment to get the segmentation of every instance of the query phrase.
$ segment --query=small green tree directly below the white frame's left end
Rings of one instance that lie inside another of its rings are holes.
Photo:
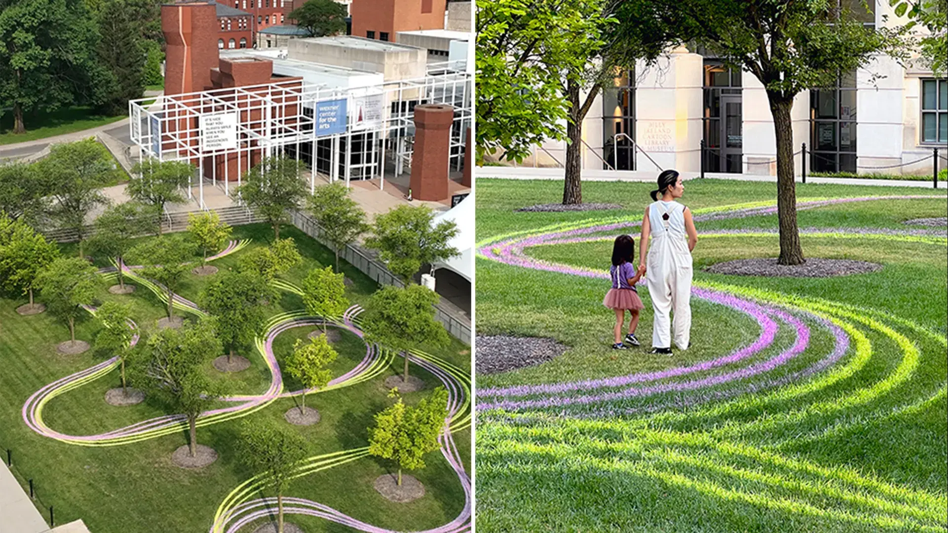
[[[132,179],[125,186],[125,193],[132,200],[155,208],[160,217],[168,204],[180,204],[185,201],[181,189],[188,187],[194,167],[185,161],[158,161],[145,159],[132,168]],[[161,225],[158,225],[161,234]]]

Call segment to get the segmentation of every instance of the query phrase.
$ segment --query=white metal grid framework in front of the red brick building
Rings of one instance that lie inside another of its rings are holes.
[[[201,208],[206,208],[206,182],[222,187],[229,196],[231,180],[239,187],[247,169],[280,150],[291,151],[297,160],[301,152],[308,151],[309,160],[304,157],[303,161],[312,169],[311,190],[316,187],[319,169],[328,169],[321,173],[330,182],[344,179],[346,187],[352,179],[375,177],[384,187],[387,161],[392,162],[395,175],[402,174],[406,166],[410,169],[413,110],[419,103],[454,107],[448,168],[461,169],[465,132],[473,115],[472,87],[472,74],[445,68],[420,80],[390,81],[374,87],[338,89],[288,78],[261,85],[163,95],[154,102],[152,98],[138,98],[129,101],[129,133],[139,148],[139,161],[144,157],[189,161],[197,167],[188,197]],[[381,120],[356,125],[355,102],[372,96],[382,98]],[[317,103],[338,99],[347,101],[345,132],[317,136]],[[200,117],[217,114],[236,114],[236,142],[231,143],[235,146],[206,150]],[[233,159],[239,169],[237,176],[229,175]],[[218,175],[219,166],[223,175]]]

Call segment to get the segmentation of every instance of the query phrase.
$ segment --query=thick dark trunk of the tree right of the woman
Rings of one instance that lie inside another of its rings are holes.
[[[800,247],[796,223],[796,184],[793,182],[793,99],[768,93],[776,133],[776,208],[780,228],[780,257],[777,264],[798,265],[806,259]]]

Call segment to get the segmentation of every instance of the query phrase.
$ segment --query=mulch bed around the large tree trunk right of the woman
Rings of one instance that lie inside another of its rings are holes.
[[[869,274],[883,269],[879,263],[853,259],[808,258],[802,265],[778,265],[776,258],[753,258],[724,261],[707,267],[705,272],[729,275],[759,275],[763,277],[835,277],[838,275]]]

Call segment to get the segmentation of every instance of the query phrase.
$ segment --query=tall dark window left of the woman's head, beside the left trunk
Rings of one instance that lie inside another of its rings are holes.
[[[612,169],[635,169],[635,73],[627,70],[602,91],[603,159]],[[620,134],[625,133],[625,134]],[[628,135],[628,136],[627,136]],[[604,169],[609,166],[603,165]]]

